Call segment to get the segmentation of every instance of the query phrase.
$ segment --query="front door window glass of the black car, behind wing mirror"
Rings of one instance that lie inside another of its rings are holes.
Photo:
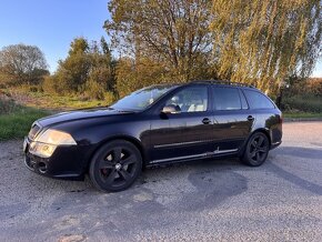
[[[172,105],[180,112],[203,112],[208,107],[208,88],[189,87],[172,95],[165,105]]]

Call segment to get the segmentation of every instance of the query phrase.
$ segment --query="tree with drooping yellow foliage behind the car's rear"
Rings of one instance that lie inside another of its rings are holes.
[[[321,0],[213,0],[219,75],[266,91],[309,77],[322,48],[321,8]]]

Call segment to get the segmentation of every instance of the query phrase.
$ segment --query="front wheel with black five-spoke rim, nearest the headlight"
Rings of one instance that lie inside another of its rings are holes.
[[[138,148],[124,140],[114,140],[93,155],[89,175],[94,186],[104,192],[119,192],[133,184],[142,171]]]

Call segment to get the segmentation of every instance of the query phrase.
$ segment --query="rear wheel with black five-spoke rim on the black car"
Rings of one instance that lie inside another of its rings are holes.
[[[270,141],[268,137],[262,132],[256,132],[249,139],[241,160],[248,165],[259,167],[265,162],[269,151]]]

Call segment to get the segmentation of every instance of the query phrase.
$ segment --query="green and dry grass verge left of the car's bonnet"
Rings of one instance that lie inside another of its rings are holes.
[[[100,101],[84,100],[76,95],[30,92],[26,88],[0,89],[0,141],[23,138],[34,120],[53,112],[102,107],[110,102],[110,95]]]

